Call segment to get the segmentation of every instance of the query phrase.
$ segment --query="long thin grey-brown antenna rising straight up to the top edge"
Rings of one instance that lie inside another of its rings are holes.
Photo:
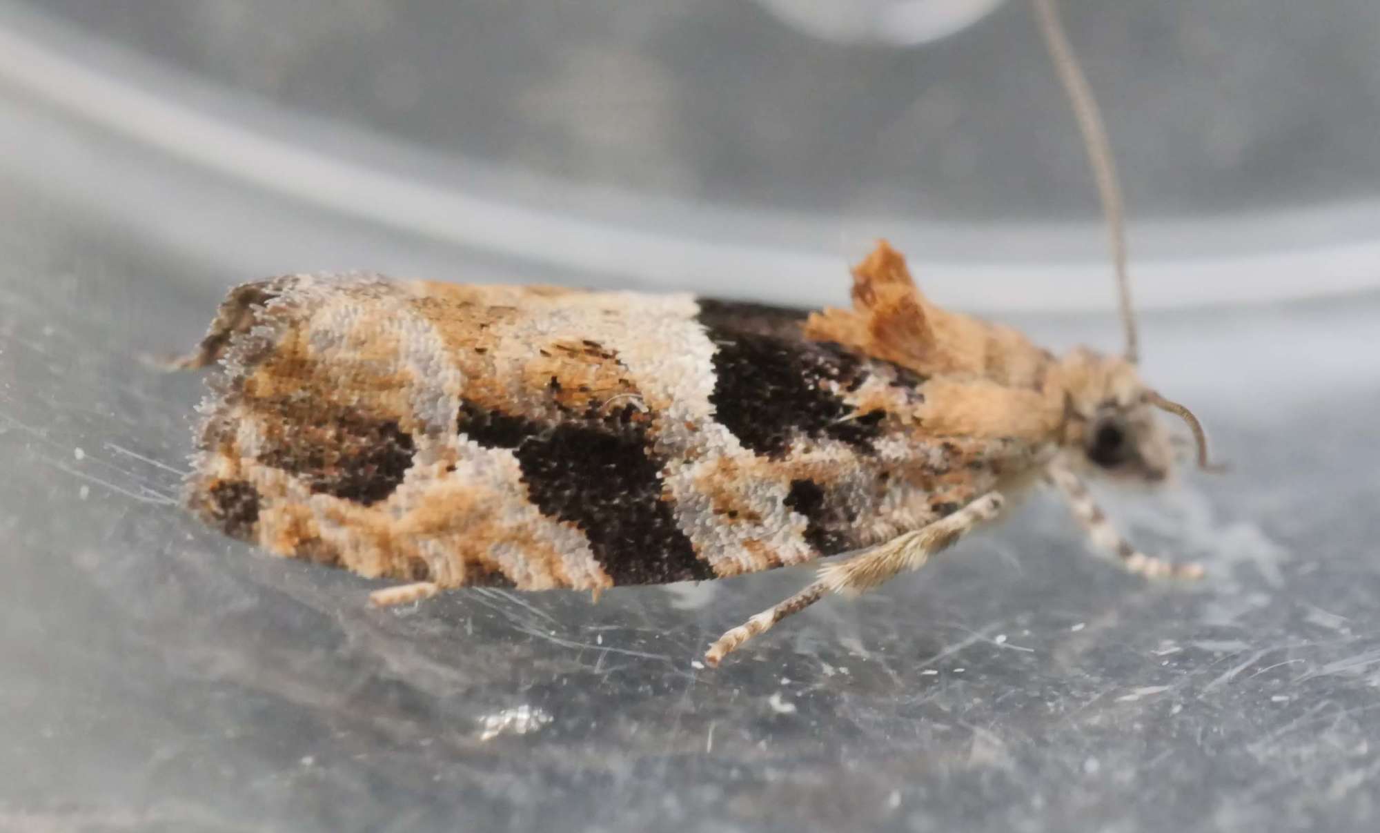
[[[1097,99],[1093,98],[1087,77],[1083,76],[1082,68],[1078,66],[1078,58],[1074,57],[1074,50],[1068,46],[1068,36],[1058,18],[1054,0],[1034,0],[1034,3],[1041,34],[1045,36],[1045,47],[1054,61],[1054,69],[1058,70],[1058,80],[1064,84],[1068,102],[1074,106],[1078,130],[1083,134],[1087,163],[1093,168],[1093,179],[1097,181],[1097,196],[1103,201],[1107,236],[1111,240],[1116,291],[1121,295],[1122,328],[1126,331],[1123,356],[1126,361],[1136,364],[1140,359],[1140,341],[1136,337],[1136,310],[1130,302],[1130,279],[1126,276],[1126,214],[1122,207],[1121,183],[1116,179],[1116,160],[1112,159],[1112,146],[1107,139],[1107,127],[1097,109]]]

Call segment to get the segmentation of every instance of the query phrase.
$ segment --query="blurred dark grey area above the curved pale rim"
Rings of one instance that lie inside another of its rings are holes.
[[[157,62],[170,86],[309,117],[346,150],[364,134],[733,208],[1096,219],[1025,3],[923,48],[858,28],[905,6],[927,4],[32,4]],[[1205,218],[1374,197],[1377,14],[1366,0],[1072,0],[1064,17],[1137,214]]]

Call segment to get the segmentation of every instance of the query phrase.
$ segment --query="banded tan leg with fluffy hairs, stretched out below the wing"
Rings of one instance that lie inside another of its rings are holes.
[[[886,543],[879,543],[845,561],[821,567],[818,578],[806,589],[720,636],[709,645],[704,661],[711,668],[718,666],[726,654],[753,636],[770,630],[773,625],[791,614],[810,607],[825,593],[856,594],[885,583],[903,570],[919,570],[930,556],[952,546],[978,524],[995,519],[1005,499],[1000,494],[987,492],[954,514],[927,527],[897,535]]]

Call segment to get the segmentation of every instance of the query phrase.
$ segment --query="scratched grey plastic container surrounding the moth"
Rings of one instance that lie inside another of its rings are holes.
[[[813,305],[922,288],[1121,343],[1024,0],[0,0],[0,826],[1372,830],[1380,7],[1065,0],[1144,372],[1223,477],[1057,503],[718,672],[781,571],[408,611],[177,506],[232,283],[377,269]]]

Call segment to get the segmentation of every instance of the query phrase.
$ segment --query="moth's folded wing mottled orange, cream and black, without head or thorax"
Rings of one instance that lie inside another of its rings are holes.
[[[221,364],[189,502],[366,576],[602,589],[879,543],[1029,456],[934,434],[926,375],[805,324],[691,295],[246,284],[188,361]]]

